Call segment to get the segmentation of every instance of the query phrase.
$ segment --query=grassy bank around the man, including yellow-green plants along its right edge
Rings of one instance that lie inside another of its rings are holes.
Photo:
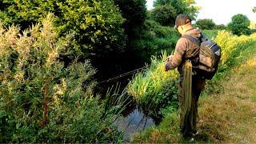
[[[222,46],[222,61],[200,99],[196,142],[255,142],[256,34],[237,37],[221,31],[215,41]],[[178,122],[178,111],[169,113],[159,126],[135,134],[133,142],[184,142]]]

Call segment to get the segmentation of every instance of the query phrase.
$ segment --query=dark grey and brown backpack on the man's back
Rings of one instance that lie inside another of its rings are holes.
[[[211,79],[218,70],[218,62],[221,59],[221,47],[216,42],[205,37],[194,38],[191,35],[184,35],[199,46],[198,62],[193,64],[193,70],[200,78]],[[192,59],[193,60],[193,59]]]

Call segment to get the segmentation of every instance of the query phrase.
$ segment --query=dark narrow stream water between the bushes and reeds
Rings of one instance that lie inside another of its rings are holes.
[[[144,54],[125,54],[125,55],[111,55],[106,59],[94,59],[93,65],[97,68],[98,73],[95,78],[98,82],[107,80],[108,78],[115,77],[119,74],[124,74],[130,70],[138,69],[145,66],[146,63],[150,63],[150,55],[152,52],[146,52]],[[154,53],[156,55],[157,53]],[[141,57],[143,55],[143,57]],[[121,84],[121,90],[123,90],[130,79],[132,74],[124,78],[118,78],[117,80],[102,83],[96,87],[97,92],[104,96],[106,90],[110,86],[114,86],[117,82]],[[128,106],[123,111],[122,117],[118,118],[115,125],[118,126],[118,130],[123,132],[123,141],[130,142],[130,138],[133,134],[145,130],[158,123],[158,120],[146,115],[141,108],[136,105]]]

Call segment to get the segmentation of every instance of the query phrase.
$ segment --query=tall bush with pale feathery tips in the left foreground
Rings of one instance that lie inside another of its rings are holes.
[[[94,98],[90,62],[65,65],[51,14],[19,33],[0,24],[0,142],[113,142],[115,116]],[[102,116],[105,115],[104,118]]]

